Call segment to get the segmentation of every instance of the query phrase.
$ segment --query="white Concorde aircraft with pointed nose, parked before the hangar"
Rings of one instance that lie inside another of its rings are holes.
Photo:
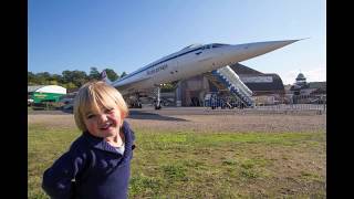
[[[155,108],[160,108],[159,91],[160,85],[195,75],[211,72],[254,56],[266,54],[277,49],[289,45],[299,40],[267,41],[244,44],[192,44],[180,51],[164,56],[146,66],[143,66],[131,74],[111,82],[105,71],[103,80],[116,87],[123,95],[136,95],[137,107],[139,93],[155,88]],[[129,103],[132,104],[132,103]]]

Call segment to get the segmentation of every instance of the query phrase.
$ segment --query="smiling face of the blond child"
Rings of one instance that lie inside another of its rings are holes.
[[[102,138],[118,135],[123,124],[118,108],[107,109],[103,107],[98,113],[87,112],[83,117],[88,133]]]

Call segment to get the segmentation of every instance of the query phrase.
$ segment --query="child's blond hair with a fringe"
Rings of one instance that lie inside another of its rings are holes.
[[[117,107],[122,119],[128,115],[128,107],[122,94],[113,86],[102,81],[92,81],[84,84],[75,96],[74,117],[79,129],[87,130],[84,116],[87,112],[98,113],[101,108],[112,109]]]

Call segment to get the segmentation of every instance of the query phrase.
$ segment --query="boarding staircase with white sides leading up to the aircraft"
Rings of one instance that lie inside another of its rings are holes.
[[[237,97],[244,107],[253,107],[254,102],[251,98],[252,91],[247,87],[240,77],[233,72],[230,66],[225,66],[209,73],[205,76],[210,80],[219,91],[228,91]]]

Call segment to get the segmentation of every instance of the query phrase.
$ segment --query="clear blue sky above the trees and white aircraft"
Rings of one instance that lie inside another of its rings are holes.
[[[326,80],[324,0],[30,0],[28,12],[33,73],[131,73],[191,43],[310,38],[241,64],[284,84]]]

